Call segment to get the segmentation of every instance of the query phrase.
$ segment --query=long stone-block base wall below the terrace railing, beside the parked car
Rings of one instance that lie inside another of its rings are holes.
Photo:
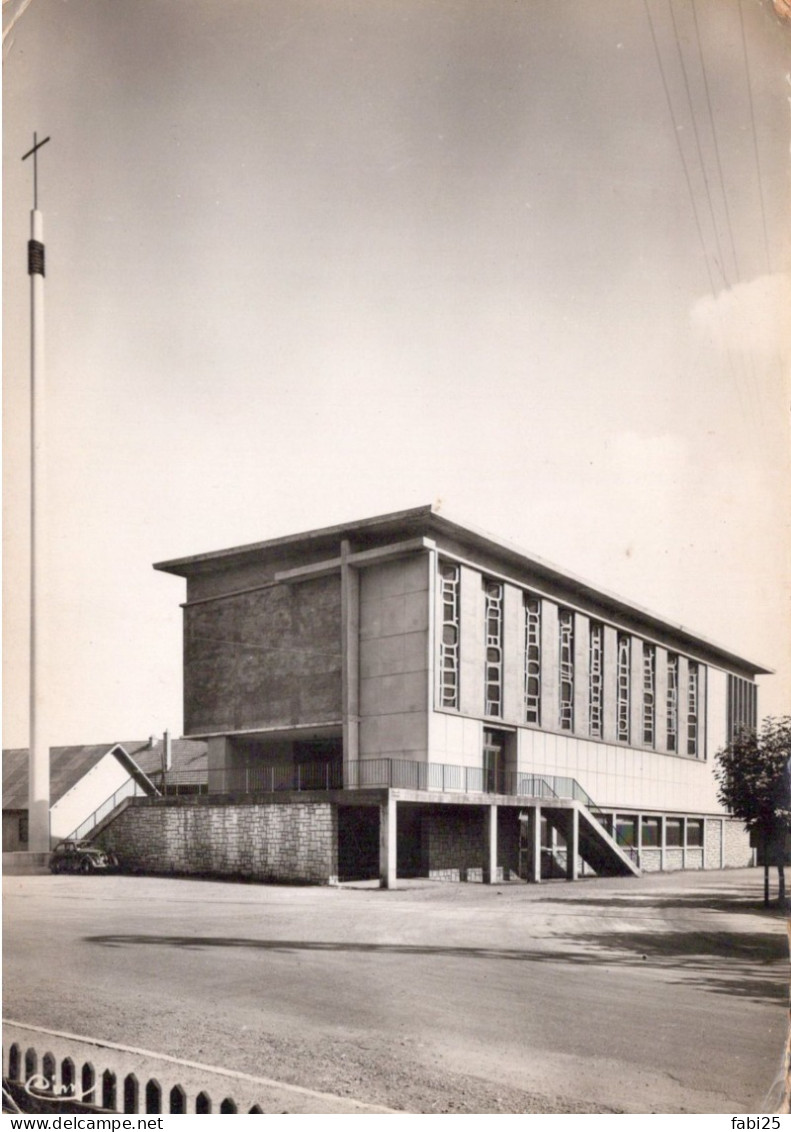
[[[291,884],[337,882],[337,811],[329,803],[132,804],[100,843],[124,869]]]

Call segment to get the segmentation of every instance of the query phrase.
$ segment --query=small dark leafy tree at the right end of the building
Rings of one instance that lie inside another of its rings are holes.
[[[769,902],[769,864],[777,868],[785,900],[785,842],[791,832],[791,715],[765,719],[760,730],[742,728],[716,753],[720,803],[755,833],[764,856],[764,903]]]

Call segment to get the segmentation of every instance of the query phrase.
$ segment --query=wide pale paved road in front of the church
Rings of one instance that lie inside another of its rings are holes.
[[[3,1014],[406,1112],[766,1112],[760,883],[7,877]]]

